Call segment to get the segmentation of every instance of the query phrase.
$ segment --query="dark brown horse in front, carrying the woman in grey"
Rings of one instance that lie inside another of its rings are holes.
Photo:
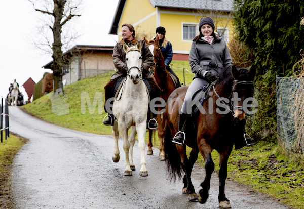
[[[200,203],[206,202],[209,196],[211,174],[214,171],[211,152],[215,149],[219,153],[220,166],[219,207],[231,208],[230,201],[225,196],[227,161],[234,142],[243,140],[237,130],[243,129],[246,124],[246,108],[243,107],[243,102],[246,98],[253,99],[254,77],[254,66],[250,70],[237,69],[235,66],[222,69],[217,83],[209,92],[209,98],[202,105],[205,112],[200,111],[198,116],[193,116],[193,123],[187,124],[185,129],[185,144],[192,148],[189,158],[186,155],[185,145],[172,143],[172,138],[178,131],[179,110],[187,87],[180,87],[170,95],[164,113],[166,120],[164,143],[168,171],[171,180],[175,180],[177,176],[181,178],[181,172],[184,171],[182,191],[188,194],[189,201],[198,199]],[[232,102],[237,101],[237,98],[238,102]],[[224,104],[224,102],[227,103]],[[191,172],[199,152],[205,160],[206,176],[197,195],[191,182]]]

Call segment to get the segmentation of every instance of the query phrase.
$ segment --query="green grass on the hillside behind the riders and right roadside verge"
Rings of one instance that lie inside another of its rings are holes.
[[[187,61],[173,61],[172,69],[183,83],[183,68],[189,70]],[[104,86],[110,79],[112,72],[101,74],[92,78],[86,78],[68,85],[64,93],[68,96],[65,100],[69,104],[69,114],[58,116],[52,113],[52,103],[45,95],[34,102],[23,106],[28,112],[46,121],[66,128],[92,132],[98,134],[111,135],[111,128],[103,126],[102,119],[106,115],[103,110]],[[190,85],[193,73],[185,70],[185,83]],[[81,110],[81,94],[88,93],[91,103],[93,103],[95,93],[101,92],[102,107],[98,112],[98,104],[93,112]],[[49,94],[49,96],[52,93]],[[94,111],[95,110],[95,111]],[[248,126],[248,125],[247,125]],[[146,134],[146,142],[148,135]],[[159,147],[159,140],[156,135],[153,140],[154,146]],[[304,205],[304,157],[303,155],[284,153],[283,148],[277,144],[258,143],[251,148],[233,150],[228,165],[228,178],[247,185],[252,189],[264,192],[286,203],[294,208],[302,208]],[[189,151],[189,150],[188,150]],[[218,154],[212,153],[215,170],[218,171]],[[201,155],[197,163],[204,165]]]

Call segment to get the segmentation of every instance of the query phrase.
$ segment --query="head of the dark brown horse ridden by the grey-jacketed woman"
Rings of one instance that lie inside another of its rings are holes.
[[[232,105],[234,110],[234,122],[245,126],[246,124],[246,110],[248,105],[253,101],[254,85],[253,80],[255,77],[255,66],[253,65],[250,70],[246,68],[236,68],[232,66],[231,72],[234,77],[232,87]],[[247,106],[246,106],[247,105]]]

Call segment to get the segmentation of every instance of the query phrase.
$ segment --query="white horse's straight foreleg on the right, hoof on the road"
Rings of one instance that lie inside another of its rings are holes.
[[[137,131],[137,138],[138,138],[138,148],[140,151],[140,171],[139,175],[140,176],[148,176],[148,171],[146,168],[146,161],[145,161],[145,132],[146,132],[146,122],[142,122],[140,124],[136,125],[136,131]]]

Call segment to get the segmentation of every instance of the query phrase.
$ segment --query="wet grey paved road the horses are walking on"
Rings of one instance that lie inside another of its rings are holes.
[[[139,151],[134,147],[133,176],[124,176],[121,161],[112,161],[113,139],[55,126],[10,107],[10,131],[29,141],[17,154],[12,173],[16,208],[218,208],[218,178],[211,180],[205,204],[188,202],[182,183],[166,179],[159,150],[147,155],[148,177],[139,176]],[[102,127],[100,127],[102,129]],[[193,183],[198,189],[204,169],[195,165]],[[198,191],[198,190],[197,190]],[[226,182],[232,208],[289,208],[267,195],[233,181]]]

